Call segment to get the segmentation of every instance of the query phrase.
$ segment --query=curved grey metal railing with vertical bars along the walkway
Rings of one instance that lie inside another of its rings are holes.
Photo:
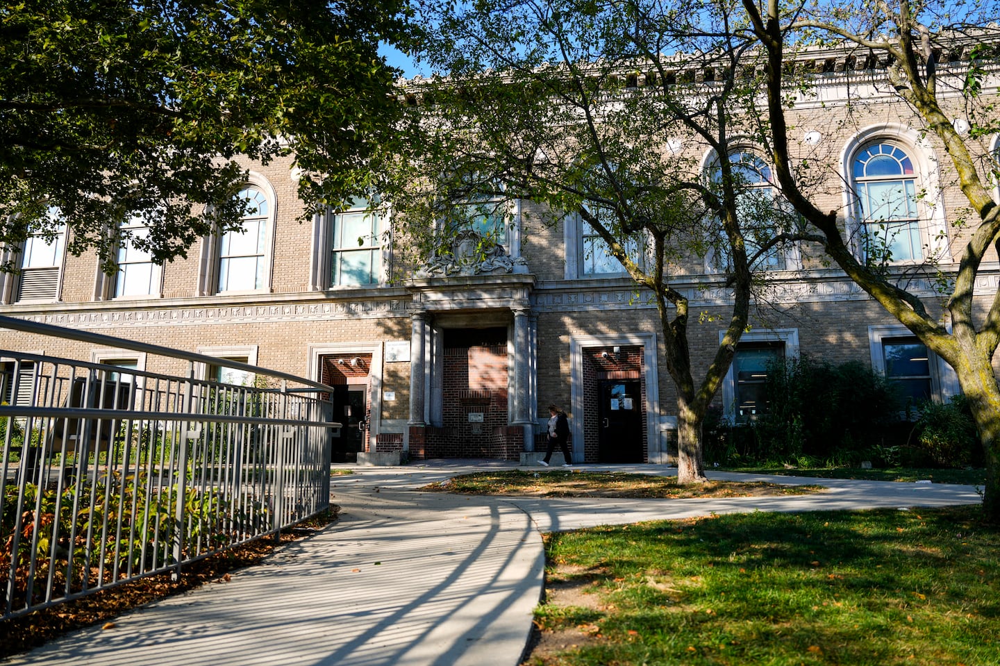
[[[188,361],[184,377],[0,350],[0,619],[179,572],[329,506],[329,387],[8,317],[0,326]],[[195,378],[196,363],[252,372],[254,385]]]

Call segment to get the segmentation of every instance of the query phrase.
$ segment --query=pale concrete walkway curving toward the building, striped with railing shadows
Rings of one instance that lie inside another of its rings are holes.
[[[464,463],[464,464],[463,464]],[[543,585],[541,532],[709,513],[978,503],[969,486],[709,473],[827,492],[710,500],[414,492],[514,465],[434,461],[334,477],[341,519],[264,564],[7,662],[100,666],[515,666]],[[670,474],[660,466],[586,466]]]

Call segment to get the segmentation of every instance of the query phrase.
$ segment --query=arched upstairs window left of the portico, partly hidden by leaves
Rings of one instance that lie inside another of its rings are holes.
[[[219,291],[263,289],[271,211],[267,197],[247,187],[236,198],[248,202],[241,229],[227,231],[219,244]]]

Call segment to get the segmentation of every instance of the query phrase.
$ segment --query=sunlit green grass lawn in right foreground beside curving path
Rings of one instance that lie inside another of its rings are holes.
[[[978,511],[754,513],[547,535],[551,603],[525,663],[1000,664],[1000,530]]]

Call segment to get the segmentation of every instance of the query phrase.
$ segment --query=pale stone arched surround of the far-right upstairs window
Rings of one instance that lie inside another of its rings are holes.
[[[931,261],[951,263],[945,220],[944,192],[940,184],[938,158],[933,147],[916,130],[896,123],[880,123],[863,128],[848,141],[840,155],[841,177],[847,186],[843,191],[847,211],[848,245],[854,255],[864,259],[864,220],[860,219],[860,202],[856,194],[854,162],[858,154],[872,144],[898,146],[913,163],[917,205],[917,228],[924,251],[921,259],[893,261],[890,266],[905,266]],[[923,196],[920,196],[920,193]]]

